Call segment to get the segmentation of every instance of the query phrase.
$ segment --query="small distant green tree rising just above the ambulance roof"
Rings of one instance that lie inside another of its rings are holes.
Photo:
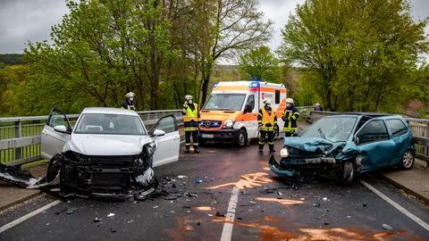
[[[267,46],[260,46],[240,56],[240,73],[244,79],[278,83],[281,78],[279,60]]]

